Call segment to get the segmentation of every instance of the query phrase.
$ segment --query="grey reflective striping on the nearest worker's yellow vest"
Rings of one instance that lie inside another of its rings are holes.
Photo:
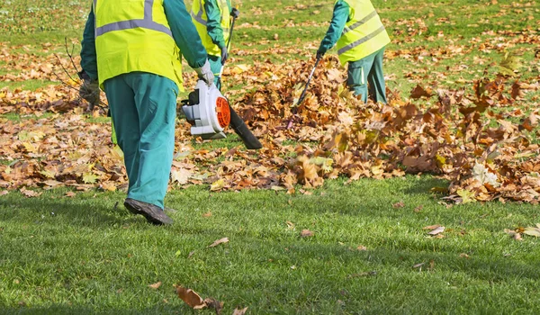
[[[96,4],[97,4],[97,0],[94,0],[94,15],[95,15]],[[95,37],[103,35],[104,33],[109,32],[109,31],[130,30],[130,29],[135,29],[138,27],[145,28],[148,30],[161,31],[161,32],[166,33],[170,37],[173,37],[172,31],[168,27],[166,27],[165,25],[156,23],[154,22],[154,20],[152,20],[153,8],[154,8],[154,0],[145,0],[143,19],[134,19],[134,20],[128,20],[128,21],[109,23],[100,27],[97,27],[97,24],[96,24]]]

